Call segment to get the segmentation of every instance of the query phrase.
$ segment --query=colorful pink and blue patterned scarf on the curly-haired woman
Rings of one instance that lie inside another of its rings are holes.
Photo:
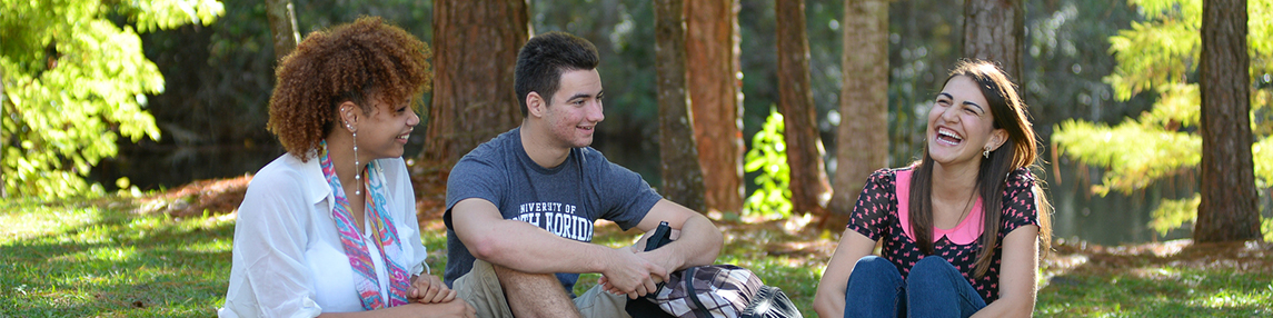
[[[336,177],[336,168],[332,167],[331,159],[327,158],[327,141],[322,141],[318,149],[322,174],[327,177],[327,184],[331,186],[331,192],[336,197],[336,206],[331,210],[331,216],[336,220],[336,230],[340,232],[340,243],[345,247],[345,256],[349,257],[349,265],[354,267],[354,285],[358,289],[358,298],[363,300],[363,309],[384,308],[379,291],[381,282],[376,276],[376,266],[372,263],[370,253],[367,252],[367,243],[363,242],[362,233],[358,233],[358,226],[354,225],[355,220],[350,214],[351,209],[349,200],[345,198],[345,190],[340,187],[340,178]],[[372,238],[377,243],[376,248],[381,252],[384,265],[388,266],[388,307],[406,304],[406,293],[411,286],[411,277],[404,270],[405,267],[402,267],[402,244],[397,237],[397,228],[393,225],[393,219],[384,210],[388,201],[384,197],[384,172],[373,160],[359,173],[363,174],[364,192],[367,192],[367,209],[363,210],[363,215],[370,220]]]

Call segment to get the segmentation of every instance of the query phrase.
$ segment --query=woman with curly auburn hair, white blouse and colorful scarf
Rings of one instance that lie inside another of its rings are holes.
[[[234,225],[220,317],[472,317],[428,272],[402,162],[428,47],[378,18],[311,33],[278,69],[271,132]]]

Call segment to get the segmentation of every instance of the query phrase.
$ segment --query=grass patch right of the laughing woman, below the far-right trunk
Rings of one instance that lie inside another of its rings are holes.
[[[1060,245],[1035,314],[1273,317],[1273,244]],[[1077,259],[1072,265],[1064,261]],[[1074,266],[1077,263],[1077,266]]]

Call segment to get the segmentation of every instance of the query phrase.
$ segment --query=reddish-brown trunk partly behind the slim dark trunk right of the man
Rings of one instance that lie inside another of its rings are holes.
[[[738,1],[686,1],[686,65],[707,209],[742,211]]]

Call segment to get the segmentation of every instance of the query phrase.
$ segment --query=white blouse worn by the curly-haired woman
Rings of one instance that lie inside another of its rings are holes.
[[[415,218],[415,193],[401,158],[376,160],[401,256],[411,275],[425,272],[428,256]],[[360,312],[354,270],[331,218],[335,202],[318,159],[284,154],[261,168],[247,187],[234,223],[233,263],[219,317],[317,317]],[[370,229],[370,226],[363,226]],[[364,232],[364,240],[369,232]],[[370,245],[369,245],[370,247]],[[384,296],[388,272],[379,251],[368,248]]]

